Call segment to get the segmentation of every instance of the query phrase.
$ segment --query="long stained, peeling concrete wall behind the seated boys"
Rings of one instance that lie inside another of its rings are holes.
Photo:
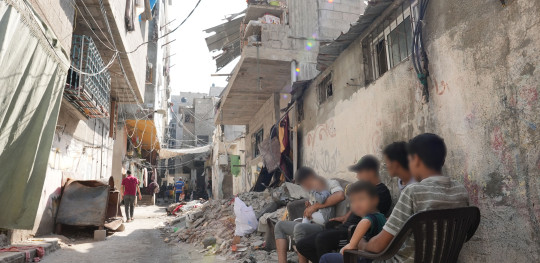
[[[301,164],[349,180],[347,166],[385,145],[423,132],[448,147],[444,174],[462,182],[480,207],[480,228],[463,262],[540,260],[540,2],[431,1],[426,38],[430,100],[423,102],[410,60],[371,85],[361,45],[353,43],[333,71],[334,95],[318,105],[316,82],[304,97]],[[356,61],[356,63],[355,63]],[[386,172],[383,181],[396,184]]]

